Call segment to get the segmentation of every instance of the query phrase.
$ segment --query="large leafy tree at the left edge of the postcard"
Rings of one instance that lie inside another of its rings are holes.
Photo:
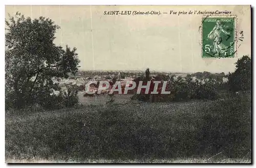
[[[6,99],[22,108],[48,98],[57,89],[55,78],[68,78],[78,71],[76,48],[53,43],[59,26],[49,18],[10,17],[6,22]]]

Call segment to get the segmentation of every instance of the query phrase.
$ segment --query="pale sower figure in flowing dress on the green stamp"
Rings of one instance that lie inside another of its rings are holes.
[[[227,56],[228,47],[222,43],[221,32],[226,35],[230,35],[229,32],[224,30],[224,27],[221,25],[220,20],[217,20],[216,26],[214,27],[214,29],[212,29],[212,31],[210,31],[207,37],[209,39],[214,39],[213,52],[216,56],[219,56],[220,54],[224,54],[224,56]]]

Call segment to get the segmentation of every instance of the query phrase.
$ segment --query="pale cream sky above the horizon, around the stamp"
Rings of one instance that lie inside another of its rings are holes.
[[[161,15],[104,15],[104,11],[160,11]],[[236,32],[235,58],[202,58],[203,15],[171,15],[174,11],[231,11]],[[81,70],[145,70],[195,73],[234,70],[251,55],[250,6],[6,6],[12,16],[51,18],[61,27],[55,43],[76,47]]]

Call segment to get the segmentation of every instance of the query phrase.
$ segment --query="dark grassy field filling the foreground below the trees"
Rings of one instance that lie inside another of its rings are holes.
[[[119,98],[118,98],[119,99]],[[250,95],[6,113],[6,162],[250,162]]]

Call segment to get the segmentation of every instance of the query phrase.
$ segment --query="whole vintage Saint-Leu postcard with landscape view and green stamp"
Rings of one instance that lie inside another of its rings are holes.
[[[251,6],[6,6],[6,163],[251,163]]]

